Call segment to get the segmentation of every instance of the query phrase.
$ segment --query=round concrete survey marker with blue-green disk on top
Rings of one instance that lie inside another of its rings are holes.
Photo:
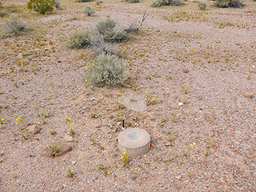
[[[130,157],[141,156],[150,150],[150,135],[140,128],[125,129],[118,135],[118,148]]]

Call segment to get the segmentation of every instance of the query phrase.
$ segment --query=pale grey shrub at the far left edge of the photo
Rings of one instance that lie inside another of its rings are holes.
[[[4,34],[10,35],[10,34],[19,34],[20,31],[26,31],[28,27],[26,26],[26,23],[24,20],[21,20],[18,18],[18,16],[14,13],[11,13],[8,17],[8,19],[5,20],[2,30]]]

